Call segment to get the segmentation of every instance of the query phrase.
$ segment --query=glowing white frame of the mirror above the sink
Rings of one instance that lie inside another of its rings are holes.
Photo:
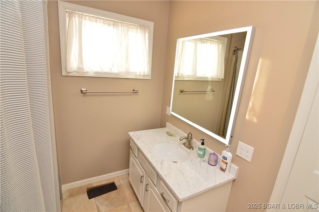
[[[255,28],[253,26],[246,26],[246,27],[241,27],[241,28],[235,28],[235,29],[228,29],[228,30],[223,30],[223,31],[217,31],[217,32],[211,32],[211,33],[206,33],[206,34],[200,34],[200,35],[194,35],[190,37],[184,37],[181,38],[183,40],[188,40],[188,39],[197,39],[197,38],[202,38],[202,37],[212,37],[212,36],[218,36],[218,35],[223,35],[223,34],[232,34],[232,33],[238,33],[238,32],[247,32],[246,34],[246,39],[245,39],[245,45],[243,49],[243,56],[242,56],[242,63],[240,64],[240,69],[239,69],[239,74],[238,74],[238,81],[236,85],[236,90],[234,94],[234,99],[233,99],[233,106],[231,108],[231,113],[230,113],[230,118],[229,118],[229,125],[227,128],[227,134],[226,138],[223,138],[191,121],[188,119],[185,119],[184,117],[174,113],[171,111],[172,104],[173,104],[173,90],[174,90],[174,82],[175,82],[175,74],[173,75],[173,82],[172,82],[172,92],[171,92],[171,99],[170,99],[170,114],[173,116],[176,116],[177,118],[183,120],[184,122],[190,124],[191,126],[199,129],[200,131],[206,133],[207,135],[217,139],[218,141],[224,143],[224,144],[231,144],[231,140],[233,137],[233,131],[235,128],[235,122],[236,122],[236,117],[237,117],[237,112],[239,108],[239,103],[240,103],[240,97],[242,93],[242,88],[244,85],[245,81],[245,76],[246,76],[246,70],[248,66],[248,59],[250,55],[250,50],[251,50],[251,45],[253,42],[253,36],[254,36],[254,31]],[[175,53],[175,58],[177,56],[177,48],[178,48],[178,42],[176,44],[176,53]],[[174,65],[174,70],[177,67],[177,61],[175,59],[175,65]]]

